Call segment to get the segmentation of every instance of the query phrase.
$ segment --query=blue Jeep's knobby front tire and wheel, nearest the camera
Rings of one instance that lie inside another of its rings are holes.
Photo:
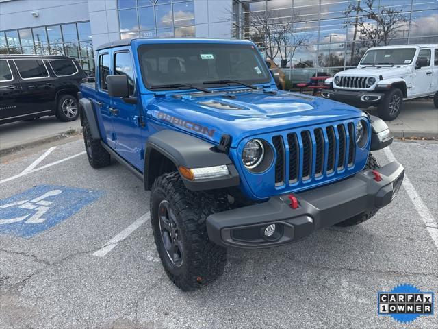
[[[189,191],[179,173],[173,172],[155,180],[150,202],[155,244],[170,280],[182,291],[192,291],[219,278],[227,263],[227,249],[209,241],[205,219],[227,210],[227,198]]]

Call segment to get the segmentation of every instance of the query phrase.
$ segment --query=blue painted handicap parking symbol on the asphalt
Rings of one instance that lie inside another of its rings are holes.
[[[0,200],[0,234],[28,238],[68,219],[103,193],[40,185]]]

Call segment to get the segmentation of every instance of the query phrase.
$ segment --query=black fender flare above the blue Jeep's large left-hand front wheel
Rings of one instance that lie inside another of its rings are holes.
[[[153,175],[150,175],[149,164],[151,153],[159,152],[170,160],[178,169],[183,166],[188,169],[214,167],[226,165],[229,175],[219,178],[207,178],[203,180],[188,180],[181,173],[181,179],[186,188],[191,191],[205,191],[218,188],[227,188],[240,184],[239,173],[233,161],[227,154],[218,151],[214,144],[196,138],[190,134],[175,130],[161,130],[149,136],[144,155],[144,187],[149,189],[152,185]],[[151,166],[154,164],[151,163]],[[151,176],[151,177],[150,177]]]

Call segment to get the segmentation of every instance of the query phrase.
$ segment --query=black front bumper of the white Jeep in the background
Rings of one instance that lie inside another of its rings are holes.
[[[383,97],[385,97],[384,93],[379,93],[378,91],[340,89],[322,90],[321,95],[322,97],[332,99],[333,101],[340,101],[358,107],[376,105],[383,100]]]

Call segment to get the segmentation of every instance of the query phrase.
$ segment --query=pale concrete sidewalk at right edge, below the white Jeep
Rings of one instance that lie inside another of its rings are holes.
[[[377,115],[374,107],[368,112]],[[433,101],[407,101],[398,118],[387,125],[395,137],[438,139],[438,108]]]

